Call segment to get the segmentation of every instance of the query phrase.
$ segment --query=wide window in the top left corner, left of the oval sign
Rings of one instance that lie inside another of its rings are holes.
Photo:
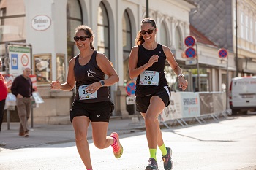
[[[5,70],[5,43],[26,42],[24,1],[0,0],[0,58]]]

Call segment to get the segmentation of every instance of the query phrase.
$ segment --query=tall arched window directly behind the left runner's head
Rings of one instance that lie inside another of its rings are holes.
[[[75,28],[82,24],[82,10],[80,2],[74,0],[67,1],[67,62],[74,57],[74,34]]]

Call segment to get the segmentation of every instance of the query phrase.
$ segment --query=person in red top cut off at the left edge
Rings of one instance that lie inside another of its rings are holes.
[[[2,66],[3,62],[1,61],[0,58],[0,69]],[[1,132],[1,123],[3,123],[3,118],[4,118],[4,105],[5,105],[5,99],[7,98],[8,94],[8,88],[7,88],[7,83],[4,80],[3,75],[0,73],[0,132]],[[0,141],[0,146],[5,146],[6,143]]]

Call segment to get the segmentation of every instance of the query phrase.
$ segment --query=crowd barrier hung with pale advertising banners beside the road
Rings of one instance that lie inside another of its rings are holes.
[[[226,93],[224,92],[171,92],[170,104],[160,114],[160,122],[172,125],[188,125],[184,120],[197,120],[205,123],[205,117],[219,120],[219,115],[226,115]]]

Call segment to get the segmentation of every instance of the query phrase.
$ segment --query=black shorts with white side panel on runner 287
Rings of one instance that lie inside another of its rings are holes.
[[[138,112],[146,113],[152,96],[159,96],[159,98],[161,98],[165,103],[165,107],[170,104],[170,88],[165,86],[158,90],[157,93],[146,96],[136,96],[136,110]]]

